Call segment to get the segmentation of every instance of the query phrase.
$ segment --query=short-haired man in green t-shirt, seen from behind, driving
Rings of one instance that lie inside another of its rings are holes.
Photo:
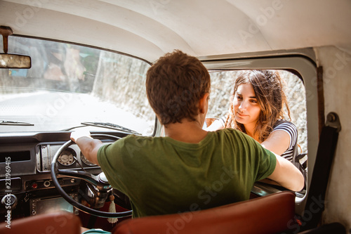
[[[248,200],[253,183],[263,178],[290,190],[303,188],[300,171],[253,138],[234,129],[202,129],[210,85],[197,58],[167,53],[146,79],[147,98],[165,136],[131,135],[103,145],[89,134],[72,133],[85,157],[130,198],[133,217]]]

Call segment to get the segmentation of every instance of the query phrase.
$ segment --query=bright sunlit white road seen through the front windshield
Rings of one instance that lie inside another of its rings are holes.
[[[4,126],[4,131],[57,131],[80,126],[81,122],[110,122],[144,133],[153,125],[127,107],[103,102],[88,93],[40,91],[2,95],[0,119],[29,122],[34,126]],[[150,130],[149,130],[150,131]]]

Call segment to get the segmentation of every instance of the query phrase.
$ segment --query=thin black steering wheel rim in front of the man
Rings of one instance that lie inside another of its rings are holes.
[[[109,139],[113,139],[113,140],[118,140],[119,137],[117,136],[112,136],[112,135],[107,135],[107,134],[92,134],[92,137],[95,138],[109,138]],[[91,209],[89,207],[84,206],[83,204],[80,204],[79,202],[77,202],[76,200],[74,200],[72,197],[70,197],[65,190],[62,189],[62,187],[60,186],[60,183],[58,182],[58,157],[60,156],[60,154],[63,152],[63,150],[65,150],[66,148],[69,147],[69,145],[73,145],[74,142],[69,140],[67,141],[65,144],[63,144],[58,151],[55,153],[55,156],[53,157],[53,161],[51,162],[51,178],[53,180],[53,184],[55,185],[55,187],[58,190],[58,193],[60,193],[60,195],[62,195],[62,197],[69,202],[69,204],[72,204],[72,206],[76,207],[77,209],[81,210],[82,212],[86,212],[88,214],[93,214],[95,216],[99,216],[99,217],[103,217],[103,218],[122,218],[122,217],[126,217],[126,216],[131,216],[133,211],[127,211],[127,212],[101,212],[99,210],[96,209]]]

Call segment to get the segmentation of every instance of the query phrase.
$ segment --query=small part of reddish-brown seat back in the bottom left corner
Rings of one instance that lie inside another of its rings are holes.
[[[10,225],[10,226],[8,226]],[[7,226],[7,227],[6,227]],[[8,228],[11,227],[11,228]],[[15,219],[9,223],[0,224],[0,233],[6,234],[79,234],[81,221],[78,216],[68,212],[39,214],[22,219]]]

